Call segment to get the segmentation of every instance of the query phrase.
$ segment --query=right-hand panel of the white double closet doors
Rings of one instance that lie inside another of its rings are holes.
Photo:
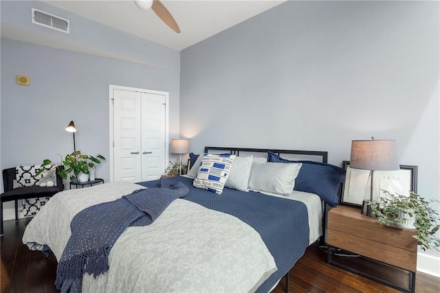
[[[165,96],[142,94],[142,181],[156,180],[164,174]]]

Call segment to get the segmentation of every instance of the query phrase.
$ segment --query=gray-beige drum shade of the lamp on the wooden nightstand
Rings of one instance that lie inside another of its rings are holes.
[[[371,171],[399,170],[395,140],[353,140],[350,168]]]

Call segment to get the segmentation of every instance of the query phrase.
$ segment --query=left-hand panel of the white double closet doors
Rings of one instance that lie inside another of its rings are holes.
[[[141,94],[113,90],[113,170],[115,181],[142,181]]]

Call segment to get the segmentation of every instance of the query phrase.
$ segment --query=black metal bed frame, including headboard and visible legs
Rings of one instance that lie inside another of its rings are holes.
[[[209,153],[209,151],[223,151],[223,152],[228,151],[232,155],[239,155],[240,152],[267,153],[268,151],[272,151],[272,153],[276,153],[277,155],[289,154],[289,155],[316,156],[318,158],[321,158],[320,162],[322,163],[327,163],[329,159],[329,153],[327,151],[295,151],[295,150],[286,150],[286,149],[249,149],[249,148],[238,148],[238,147],[205,146],[205,153]],[[325,243],[327,242],[326,241],[327,214],[329,213],[330,209],[331,206],[325,204],[324,215],[322,215],[322,236],[320,237],[321,245],[325,245]],[[289,292],[289,272],[285,274],[285,292]]]

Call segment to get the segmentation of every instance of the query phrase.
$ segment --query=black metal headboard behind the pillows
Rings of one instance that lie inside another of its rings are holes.
[[[209,151],[229,152],[232,155],[240,155],[240,152],[267,153],[268,151],[272,151],[272,153],[276,153],[277,155],[281,155],[284,153],[289,155],[313,156],[320,158],[320,162],[322,163],[327,163],[327,160],[329,158],[329,153],[327,151],[292,151],[285,149],[248,149],[239,147],[205,146],[205,153],[209,153]]]

